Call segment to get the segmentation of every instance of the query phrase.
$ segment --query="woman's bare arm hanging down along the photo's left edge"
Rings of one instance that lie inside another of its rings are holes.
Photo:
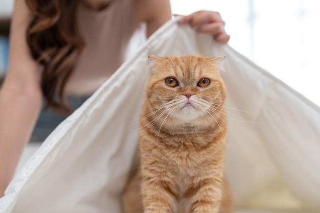
[[[0,90],[0,197],[13,177],[42,104],[40,66],[31,58],[26,41],[31,18],[25,0],[16,0],[8,73]]]

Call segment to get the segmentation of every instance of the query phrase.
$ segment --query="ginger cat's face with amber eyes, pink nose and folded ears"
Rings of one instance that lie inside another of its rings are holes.
[[[226,96],[219,75],[224,57],[149,58],[154,69],[147,86],[150,107],[182,123],[217,116]]]

